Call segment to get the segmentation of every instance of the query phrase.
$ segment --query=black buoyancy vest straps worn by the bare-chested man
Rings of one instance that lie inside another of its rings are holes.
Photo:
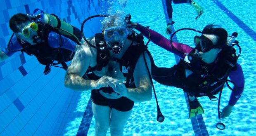
[[[94,67],[89,67],[83,77],[90,80],[100,79],[100,77],[93,74],[93,71],[102,70],[102,68],[107,66],[109,61],[112,60],[119,63],[119,68],[123,73],[123,76],[126,77],[126,80],[123,81],[126,87],[135,87],[135,84],[133,82],[133,72],[140,55],[147,50],[147,46],[144,45],[144,42],[142,39],[143,37],[141,38],[140,36],[141,35],[135,36],[134,34],[128,36],[129,40],[132,40],[133,42],[136,42],[136,43],[133,44],[132,42],[132,44],[123,54],[121,59],[116,59],[114,57],[109,56],[109,51],[97,49],[97,65]],[[107,47],[106,42],[104,40],[103,33],[97,33],[95,35],[95,43],[97,47]],[[102,90],[103,92],[108,92],[108,93],[114,92],[111,87],[102,87],[100,89],[93,89],[92,91],[97,91],[97,90]]]

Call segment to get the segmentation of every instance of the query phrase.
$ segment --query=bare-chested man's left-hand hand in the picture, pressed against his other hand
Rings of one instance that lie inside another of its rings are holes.
[[[95,89],[100,89],[102,87],[109,87],[109,86],[111,87],[114,85],[114,83],[110,82],[109,80],[112,80],[112,79],[113,79],[112,77],[104,75],[100,77],[100,79],[94,82],[93,87]]]

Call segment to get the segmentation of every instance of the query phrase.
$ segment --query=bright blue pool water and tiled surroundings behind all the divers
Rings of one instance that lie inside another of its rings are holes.
[[[118,0],[119,3],[126,0]],[[107,11],[107,0],[30,0],[28,3],[1,0],[4,6],[0,23],[0,43],[7,43],[10,30],[7,22],[10,15],[29,12],[29,7],[45,7],[47,12],[54,12],[67,22],[80,28],[81,22],[88,16]],[[52,3],[51,3],[52,2]],[[73,3],[72,3],[73,2]],[[83,3],[84,4],[81,4]],[[156,102],[135,103],[133,113],[125,129],[125,136],[254,136],[256,135],[256,1],[255,0],[196,0],[204,8],[204,14],[195,21],[196,12],[187,4],[173,4],[174,30],[194,28],[202,30],[208,23],[222,26],[231,35],[238,33],[237,40],[242,47],[238,63],[244,71],[244,92],[232,109],[229,117],[222,122],[225,130],[216,129],[218,122],[217,101],[199,98],[204,114],[187,119],[188,109],[185,95],[181,89],[167,87],[154,82],[156,94],[165,116],[162,123],[156,121]],[[60,4],[59,4],[60,3]],[[89,5],[89,6],[87,6]],[[19,8],[25,7],[25,8]],[[122,7],[122,5],[119,5]],[[62,10],[63,9],[63,10]],[[65,11],[65,10],[68,11]],[[119,7],[116,7],[119,9]],[[132,21],[170,38],[165,33],[166,27],[165,0],[127,0],[122,9],[132,16]],[[66,12],[69,15],[66,17]],[[77,17],[78,16],[78,17]],[[81,18],[79,18],[79,16]],[[88,25],[98,26],[98,21]],[[97,27],[87,27],[86,37],[96,33]],[[175,40],[193,46],[193,36],[197,33],[181,31]],[[147,41],[145,39],[145,41]],[[149,43],[149,51],[159,67],[175,65],[175,56]],[[3,48],[4,45],[1,45]],[[23,58],[23,59],[22,59]],[[26,61],[24,63],[24,60]],[[11,67],[11,68],[10,68]],[[63,86],[64,70],[53,68],[50,75],[44,76],[42,69],[34,57],[15,54],[7,61],[0,63],[0,135],[94,135],[95,120],[91,113],[90,91],[76,92]],[[228,104],[231,91],[223,89],[220,109]],[[19,95],[18,95],[19,94]],[[36,108],[35,108],[36,107]],[[109,131],[107,135],[110,135]]]

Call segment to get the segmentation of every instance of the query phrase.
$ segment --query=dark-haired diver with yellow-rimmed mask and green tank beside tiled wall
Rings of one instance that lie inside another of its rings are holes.
[[[38,15],[18,13],[11,17],[9,27],[14,33],[7,47],[0,50],[0,62],[21,51],[36,56],[45,65],[45,75],[57,64],[66,70],[65,62],[73,58],[76,45],[81,45],[81,31],[54,14],[40,9],[35,9],[34,14],[38,11]]]

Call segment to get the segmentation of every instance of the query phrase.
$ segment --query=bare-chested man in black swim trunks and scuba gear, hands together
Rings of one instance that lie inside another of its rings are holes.
[[[103,33],[86,40],[83,24],[100,16],[105,17]],[[95,15],[85,21],[81,27],[85,42],[78,47],[64,84],[77,91],[91,90],[96,136],[105,136],[108,129],[111,136],[121,136],[134,102],[152,98],[147,46],[133,37],[118,14]]]

